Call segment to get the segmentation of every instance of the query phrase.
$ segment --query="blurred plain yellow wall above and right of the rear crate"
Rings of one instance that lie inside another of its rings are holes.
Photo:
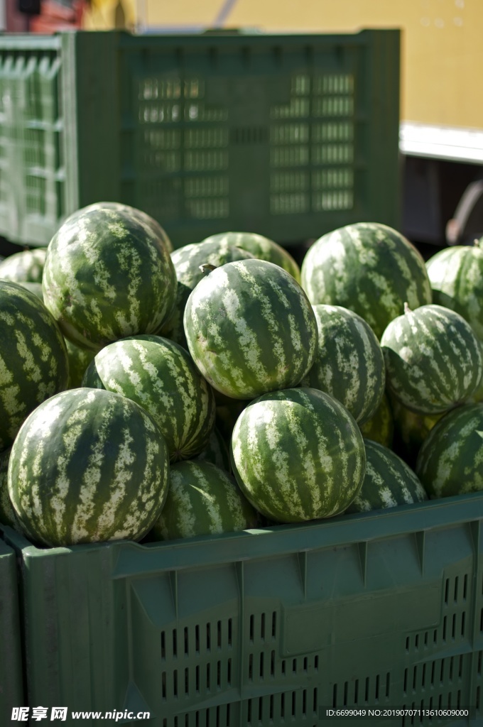
[[[316,33],[402,28],[402,119],[483,127],[483,0],[123,2],[135,2],[140,25],[158,28],[212,26],[223,9],[229,9],[223,25],[231,28]]]

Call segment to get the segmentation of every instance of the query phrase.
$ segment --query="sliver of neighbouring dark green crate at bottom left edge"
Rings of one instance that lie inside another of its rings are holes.
[[[9,725],[12,709],[23,704],[17,561],[0,537],[0,725]]]

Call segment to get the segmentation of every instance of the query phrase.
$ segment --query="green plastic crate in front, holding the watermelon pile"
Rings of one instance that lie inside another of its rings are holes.
[[[483,724],[483,494],[140,545],[20,556],[31,706],[153,727],[352,724],[327,709],[472,707]],[[86,725],[100,724],[86,720]]]

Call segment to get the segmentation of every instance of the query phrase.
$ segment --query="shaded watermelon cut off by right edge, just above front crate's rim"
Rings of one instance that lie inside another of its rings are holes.
[[[436,422],[421,445],[415,472],[429,497],[483,490],[483,404],[463,404]]]

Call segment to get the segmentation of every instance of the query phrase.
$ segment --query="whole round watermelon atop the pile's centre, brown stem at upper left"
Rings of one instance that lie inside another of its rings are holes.
[[[231,398],[296,386],[315,360],[314,310],[290,273],[266,260],[209,272],[191,292],[183,324],[201,374]]]

